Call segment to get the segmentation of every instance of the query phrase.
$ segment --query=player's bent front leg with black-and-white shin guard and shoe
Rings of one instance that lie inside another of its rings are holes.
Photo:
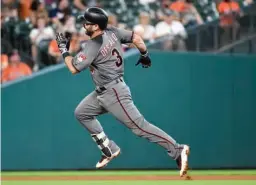
[[[104,167],[120,153],[120,148],[108,138],[96,119],[96,116],[104,113],[106,110],[100,105],[95,92],[86,96],[75,109],[75,117],[88,130],[103,154],[102,159],[96,165],[97,168]]]

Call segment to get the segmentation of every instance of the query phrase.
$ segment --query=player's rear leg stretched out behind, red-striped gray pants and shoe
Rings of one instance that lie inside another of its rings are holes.
[[[109,90],[111,91],[111,90]],[[148,139],[152,143],[156,143],[166,149],[169,156],[177,162],[187,163],[189,148],[187,145],[180,145],[170,135],[149,123],[143,115],[139,112],[132,101],[129,87],[125,83],[120,83],[112,88],[112,95],[110,92],[106,93],[108,98],[108,106],[105,108],[112,113],[120,122],[124,123],[130,128],[133,133],[139,137]],[[111,97],[111,98],[110,98]],[[183,168],[187,167],[183,165]],[[182,168],[182,165],[181,165]],[[183,171],[186,171],[183,169]]]

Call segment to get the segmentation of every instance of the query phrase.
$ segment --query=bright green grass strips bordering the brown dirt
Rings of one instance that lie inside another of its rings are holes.
[[[256,170],[195,170],[193,175],[256,175]],[[2,172],[2,176],[178,175],[178,171]],[[2,181],[2,185],[256,185],[256,181]]]

